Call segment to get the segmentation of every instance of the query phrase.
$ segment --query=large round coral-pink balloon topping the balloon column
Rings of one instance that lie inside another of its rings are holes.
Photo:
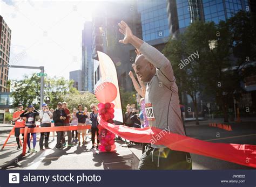
[[[101,103],[110,103],[117,97],[117,88],[111,82],[103,82],[95,90],[96,98]]]

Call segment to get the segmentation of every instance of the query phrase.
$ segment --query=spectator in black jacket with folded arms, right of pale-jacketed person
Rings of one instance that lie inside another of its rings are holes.
[[[65,111],[62,109],[62,103],[58,103],[57,105],[57,109],[53,112],[53,120],[54,120],[54,124],[55,126],[59,127],[59,126],[64,126],[64,120],[66,119],[66,113]],[[62,136],[63,136],[63,131],[58,131],[57,132],[57,143],[56,143],[56,148],[57,149],[62,149]]]

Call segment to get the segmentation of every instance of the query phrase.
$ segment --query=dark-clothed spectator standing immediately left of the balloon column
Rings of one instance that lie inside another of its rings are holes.
[[[95,144],[95,135],[97,133],[97,147],[96,149],[98,149],[98,146],[99,146],[99,140],[98,140],[98,136],[99,136],[99,129],[98,129],[98,120],[97,120],[97,117],[98,117],[98,111],[96,109],[96,106],[95,105],[91,105],[91,110],[92,112],[90,113],[90,119],[92,121],[92,127],[91,127],[91,131],[92,131],[92,148],[91,149],[94,149],[94,144]]]

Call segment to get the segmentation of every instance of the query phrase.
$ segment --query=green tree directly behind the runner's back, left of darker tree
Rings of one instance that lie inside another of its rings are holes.
[[[186,93],[192,99],[198,121],[197,97],[202,92],[200,83],[202,66],[206,58],[205,51],[208,49],[208,41],[213,38],[214,24],[196,21],[187,27],[183,34],[167,42],[163,53],[172,63],[174,75],[179,85],[179,91]],[[195,56],[196,54],[198,55]],[[190,63],[183,66],[181,61]]]

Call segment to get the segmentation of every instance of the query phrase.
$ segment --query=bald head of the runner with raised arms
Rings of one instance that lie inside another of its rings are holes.
[[[156,68],[151,64],[143,54],[136,57],[135,60],[136,74],[143,82],[149,82],[156,74]]]

